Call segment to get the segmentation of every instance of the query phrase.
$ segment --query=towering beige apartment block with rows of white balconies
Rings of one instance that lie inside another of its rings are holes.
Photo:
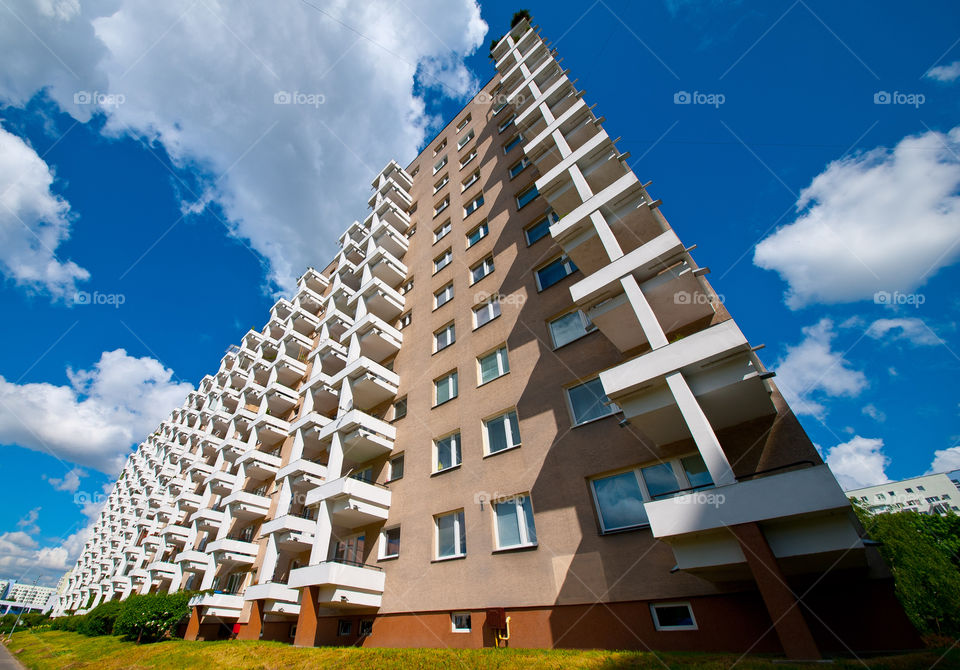
[[[492,56],[130,457],[58,611],[192,589],[191,639],[915,646],[773,374],[556,53],[522,21]]]

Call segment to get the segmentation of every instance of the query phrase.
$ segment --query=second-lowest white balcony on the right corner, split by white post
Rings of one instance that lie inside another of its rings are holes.
[[[690,437],[665,378],[682,372],[714,430],[773,414],[756,354],[733,321],[688,335],[600,373],[607,397],[657,444]]]

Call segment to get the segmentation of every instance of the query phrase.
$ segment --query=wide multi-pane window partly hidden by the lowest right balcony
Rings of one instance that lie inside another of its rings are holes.
[[[644,503],[680,489],[707,488],[713,480],[700,454],[636,467],[590,481],[603,532],[647,525]]]

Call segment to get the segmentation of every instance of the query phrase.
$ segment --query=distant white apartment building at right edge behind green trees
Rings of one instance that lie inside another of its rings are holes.
[[[847,496],[872,514],[960,513],[960,492],[957,490],[957,484],[943,473],[850,489],[847,491]]]

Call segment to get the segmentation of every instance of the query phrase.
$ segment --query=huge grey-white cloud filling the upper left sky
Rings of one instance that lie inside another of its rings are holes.
[[[222,205],[232,234],[288,289],[362,218],[375,172],[426,139],[418,71],[422,88],[473,90],[463,58],[487,30],[473,0],[13,5],[31,30],[0,23],[0,98],[22,105],[45,87],[75,118],[102,111],[105,133],[142,137],[201,171],[203,192],[181,189],[185,211]],[[280,91],[323,103],[274,104]],[[97,108],[84,92],[114,97]]]

